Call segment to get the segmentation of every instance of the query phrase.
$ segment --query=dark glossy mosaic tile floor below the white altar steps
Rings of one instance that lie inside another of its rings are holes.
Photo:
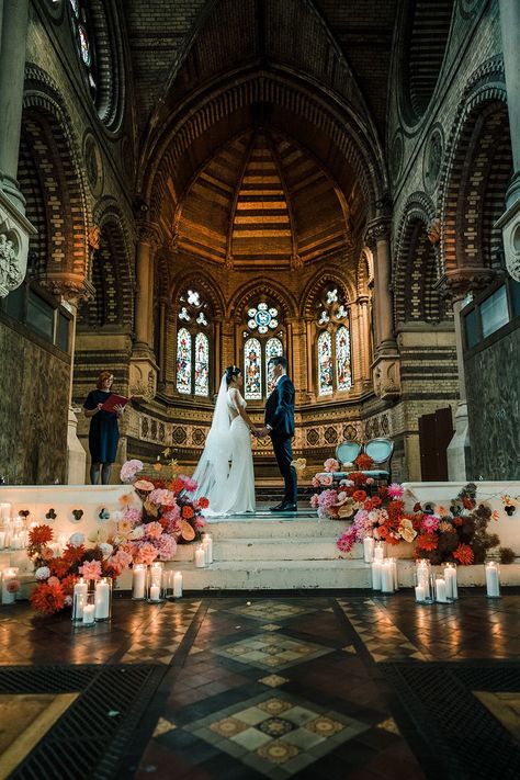
[[[65,615],[36,618],[16,603],[0,609],[0,679],[2,669],[14,674],[0,694],[42,692],[30,670],[45,677],[56,665],[155,670],[138,694],[139,720],[124,730],[108,721],[110,762],[83,775],[72,762],[60,780],[505,780],[518,777],[509,765],[520,750],[519,612],[520,595],[489,602],[474,590],[445,609],[417,608],[406,591],[118,599],[110,624],[75,631]],[[66,692],[61,678],[53,671],[42,690]],[[126,687],[135,711],[132,694]],[[117,688],[99,696],[86,700],[93,711],[118,712]],[[50,723],[43,746],[59,732],[74,757],[77,734],[65,724],[75,706]],[[491,747],[475,762],[474,732],[500,745],[500,772]],[[12,773],[26,777],[22,766]]]

